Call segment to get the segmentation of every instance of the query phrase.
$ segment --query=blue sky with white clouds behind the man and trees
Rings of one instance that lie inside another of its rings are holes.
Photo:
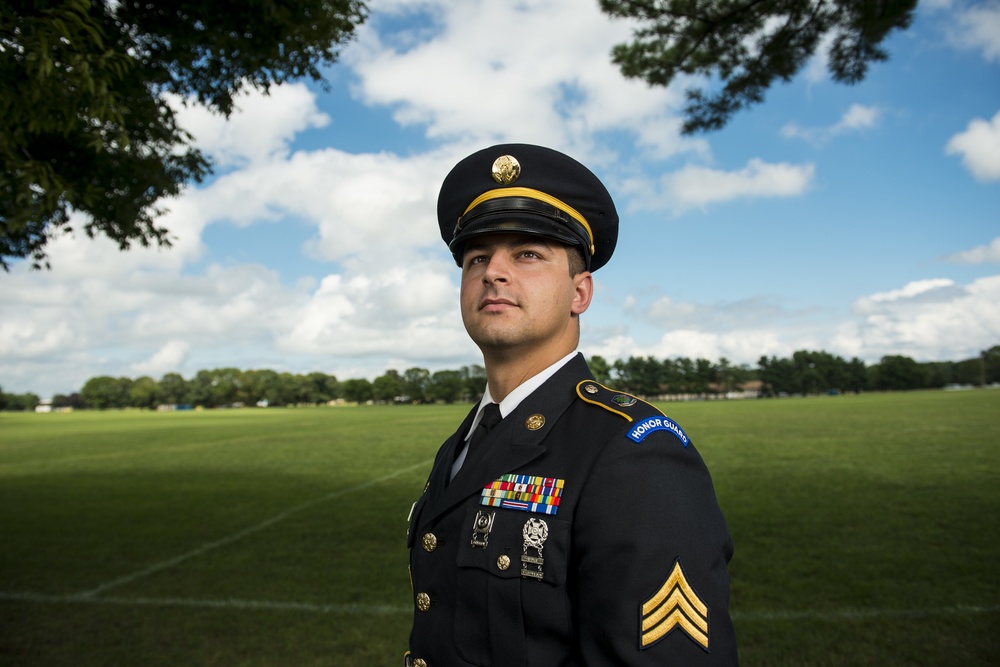
[[[327,73],[186,127],[216,162],[167,202],[169,250],[52,244],[0,277],[0,386],[235,366],[373,378],[479,363],[435,220],[459,159],[539,143],[621,215],[581,349],[755,365],[1000,344],[1000,4],[922,3],[857,86],[818,56],[721,132],[684,82],[621,77],[596,2],[375,0]]]

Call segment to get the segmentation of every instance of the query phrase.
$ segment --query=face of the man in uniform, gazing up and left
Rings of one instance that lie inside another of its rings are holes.
[[[483,350],[568,354],[590,305],[590,273],[569,275],[566,246],[530,234],[471,239],[462,260],[462,321]],[[569,347],[566,347],[566,346]]]

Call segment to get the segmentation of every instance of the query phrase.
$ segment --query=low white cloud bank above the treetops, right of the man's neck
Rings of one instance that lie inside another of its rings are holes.
[[[761,356],[787,357],[802,349],[868,363],[888,354],[957,361],[1000,341],[1000,275],[968,285],[944,278],[914,281],[861,297],[845,314],[787,310],[769,298],[712,305],[663,297],[640,311],[653,331],[666,331],[653,338],[626,331],[594,340],[585,328],[585,353],[609,360],[726,357],[750,366]]]

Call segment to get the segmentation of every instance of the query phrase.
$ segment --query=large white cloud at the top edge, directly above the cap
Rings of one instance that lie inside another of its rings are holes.
[[[527,141],[579,156],[596,150],[596,133],[623,129],[656,157],[706,150],[703,140],[680,136],[675,88],[626,80],[611,63],[611,47],[630,37],[631,24],[612,21],[596,3],[420,5],[433,7],[433,30],[380,36],[378,15],[410,6],[377,3],[373,25],[345,53],[362,99],[395,108],[402,125],[426,126],[438,140]]]

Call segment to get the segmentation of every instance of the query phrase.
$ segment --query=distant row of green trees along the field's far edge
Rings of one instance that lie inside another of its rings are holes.
[[[725,357],[657,359],[629,357],[608,362],[588,359],[598,382],[651,399],[725,397],[752,388],[758,395],[791,396],[862,391],[934,389],[951,384],[982,386],[1000,383],[1000,345],[962,361],[917,362],[902,355],[882,357],[867,365],[824,351],[799,350],[791,357],[762,356],[757,367],[734,365]],[[273,370],[221,368],[198,371],[190,380],[167,373],[160,380],[102,375],[87,380],[79,392],[57,394],[53,408],[154,409],[180,407],[294,406],[348,403],[456,403],[477,401],[486,386],[479,365],[430,372],[390,369],[374,380],[338,380],[334,375],[278,373]],[[0,390],[0,410],[34,410],[33,393]]]

